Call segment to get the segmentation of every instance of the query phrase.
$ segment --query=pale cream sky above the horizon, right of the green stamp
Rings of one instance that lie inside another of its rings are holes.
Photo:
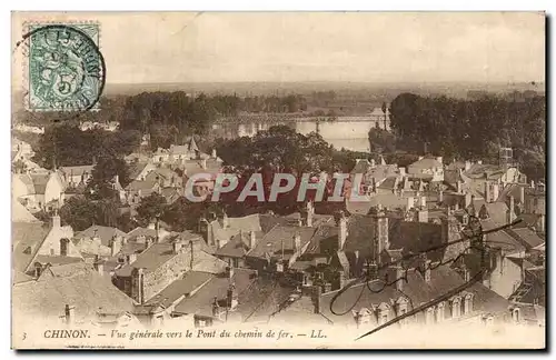
[[[17,12],[13,44],[29,20],[98,21],[108,83],[545,79],[535,12]]]

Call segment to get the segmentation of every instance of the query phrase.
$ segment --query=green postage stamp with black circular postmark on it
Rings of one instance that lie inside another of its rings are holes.
[[[28,42],[27,110],[99,109],[106,66],[98,23],[32,23],[23,38]]]

